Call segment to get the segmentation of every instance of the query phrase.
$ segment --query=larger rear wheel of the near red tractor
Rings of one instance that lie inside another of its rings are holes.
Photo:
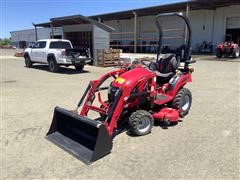
[[[192,104],[192,94],[187,88],[182,88],[175,96],[172,107],[180,110],[180,117],[186,116],[190,110]]]

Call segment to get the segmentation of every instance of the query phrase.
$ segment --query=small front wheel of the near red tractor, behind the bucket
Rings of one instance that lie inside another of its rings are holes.
[[[153,127],[153,117],[145,110],[137,110],[129,117],[129,131],[133,135],[142,136],[151,132]]]

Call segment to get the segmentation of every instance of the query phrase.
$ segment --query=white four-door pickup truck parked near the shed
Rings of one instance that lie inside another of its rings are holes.
[[[59,66],[75,66],[82,71],[85,64],[92,61],[89,49],[74,49],[71,42],[65,39],[43,39],[24,51],[26,67],[34,63],[48,64],[49,71],[59,71]]]

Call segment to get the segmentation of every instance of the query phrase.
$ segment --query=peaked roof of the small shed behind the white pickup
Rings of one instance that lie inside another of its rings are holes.
[[[83,15],[73,15],[73,16],[63,16],[63,17],[56,17],[56,18],[51,18],[50,22],[46,23],[39,23],[39,24],[33,24],[36,27],[61,27],[65,25],[75,25],[75,24],[94,24],[98,26],[101,29],[104,29],[105,31],[111,32],[114,31],[115,29],[97,22],[89,17],[83,16]]]

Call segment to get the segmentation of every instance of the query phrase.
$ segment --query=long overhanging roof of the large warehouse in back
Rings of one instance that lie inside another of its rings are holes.
[[[138,16],[148,16],[148,15],[157,15],[159,13],[185,11],[187,4],[190,6],[190,10],[216,9],[224,6],[230,6],[230,5],[236,5],[236,4],[240,5],[240,1],[239,0],[189,0],[189,1],[183,1],[178,3],[172,3],[172,4],[164,4],[160,6],[151,6],[146,8],[99,14],[99,15],[94,15],[89,17],[92,19],[101,18],[101,20],[103,21],[129,19],[133,17],[133,12],[136,12]]]

